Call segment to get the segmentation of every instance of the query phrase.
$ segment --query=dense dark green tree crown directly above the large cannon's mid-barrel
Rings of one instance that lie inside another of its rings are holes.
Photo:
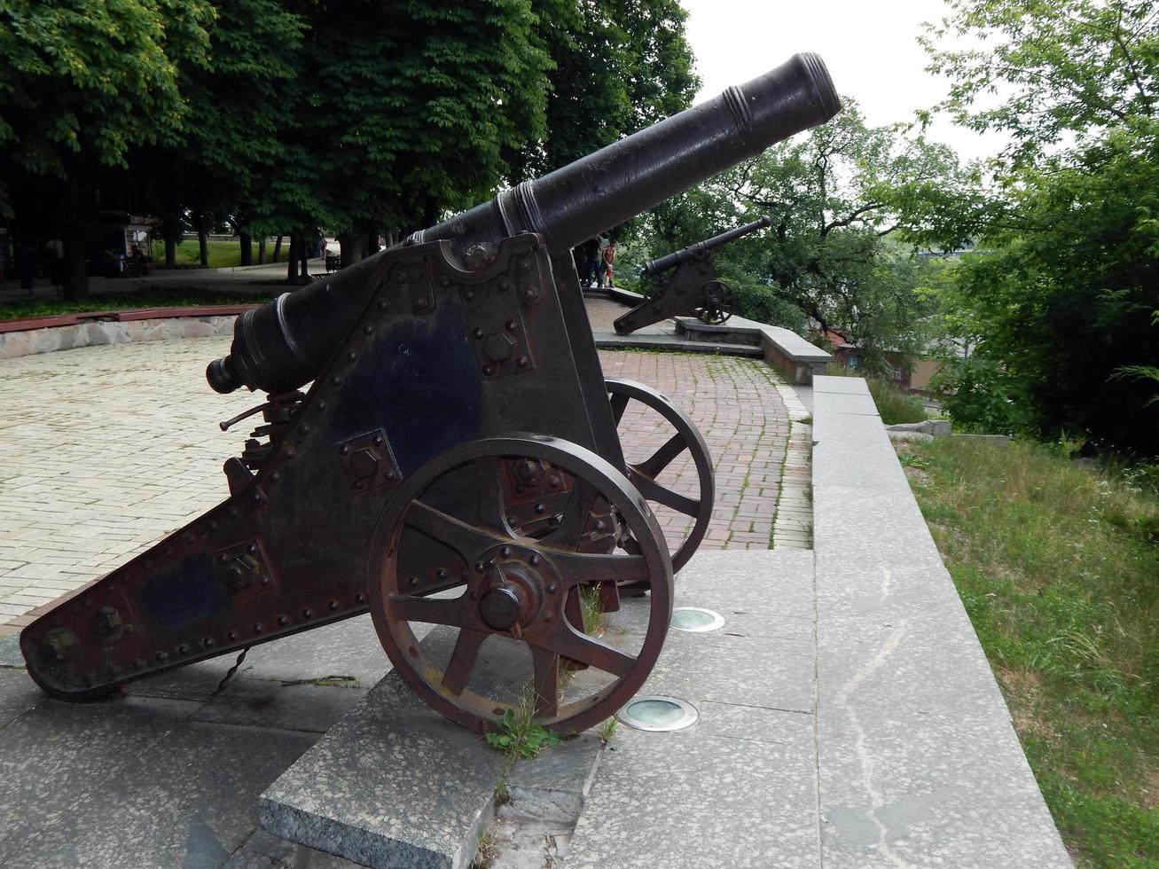
[[[546,52],[530,0],[327,0],[299,82],[320,196],[357,239],[484,198],[544,131]],[[300,168],[300,167],[299,167]]]

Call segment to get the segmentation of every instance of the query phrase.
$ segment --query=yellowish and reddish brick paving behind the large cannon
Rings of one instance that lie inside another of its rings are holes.
[[[221,432],[217,423],[255,403],[248,393],[221,396],[205,386],[206,360],[227,345],[226,338],[153,341],[0,362],[0,633],[29,623],[56,598],[226,497],[221,463],[240,451],[245,432]],[[704,547],[773,542],[787,446],[786,481],[796,494],[783,498],[775,543],[809,547],[808,429],[794,425],[789,445],[786,401],[795,397],[771,368],[685,353],[602,351],[600,358],[607,377],[659,389],[704,433],[717,490]],[[797,403],[794,416],[803,414]],[[666,440],[665,426],[629,404],[620,430],[628,460]],[[678,457],[661,482],[694,495],[691,457]],[[690,521],[666,507],[657,512],[670,540],[683,539]]]

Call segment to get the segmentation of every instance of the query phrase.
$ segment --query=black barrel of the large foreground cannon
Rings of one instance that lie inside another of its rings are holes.
[[[408,243],[447,240],[464,258],[474,246],[530,231],[562,255],[839,110],[822,59],[794,54],[746,85],[417,232]],[[380,256],[240,316],[229,356],[206,371],[210,385],[220,393],[241,386],[280,393],[313,380],[365,305]]]

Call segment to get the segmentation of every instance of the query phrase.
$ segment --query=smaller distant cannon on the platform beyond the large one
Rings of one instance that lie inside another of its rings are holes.
[[[719,326],[732,316],[732,290],[716,279],[712,251],[730,241],[763,229],[772,222],[767,217],[738,226],[705,241],[698,241],[658,260],[644,263],[644,275],[662,275],[676,269],[654,295],[615,319],[612,326],[620,335],[658,323],[677,314],[692,314],[709,326]]]

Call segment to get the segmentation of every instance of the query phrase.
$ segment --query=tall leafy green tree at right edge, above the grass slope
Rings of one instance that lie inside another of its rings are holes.
[[[982,48],[940,49],[949,35]],[[990,386],[1025,396],[1041,436],[1159,454],[1151,390],[1116,377],[1159,364],[1159,12],[956,0],[926,43],[953,81],[938,108],[1012,137],[994,183],[960,211],[984,250],[957,289]],[[979,108],[991,89],[1003,103]]]

